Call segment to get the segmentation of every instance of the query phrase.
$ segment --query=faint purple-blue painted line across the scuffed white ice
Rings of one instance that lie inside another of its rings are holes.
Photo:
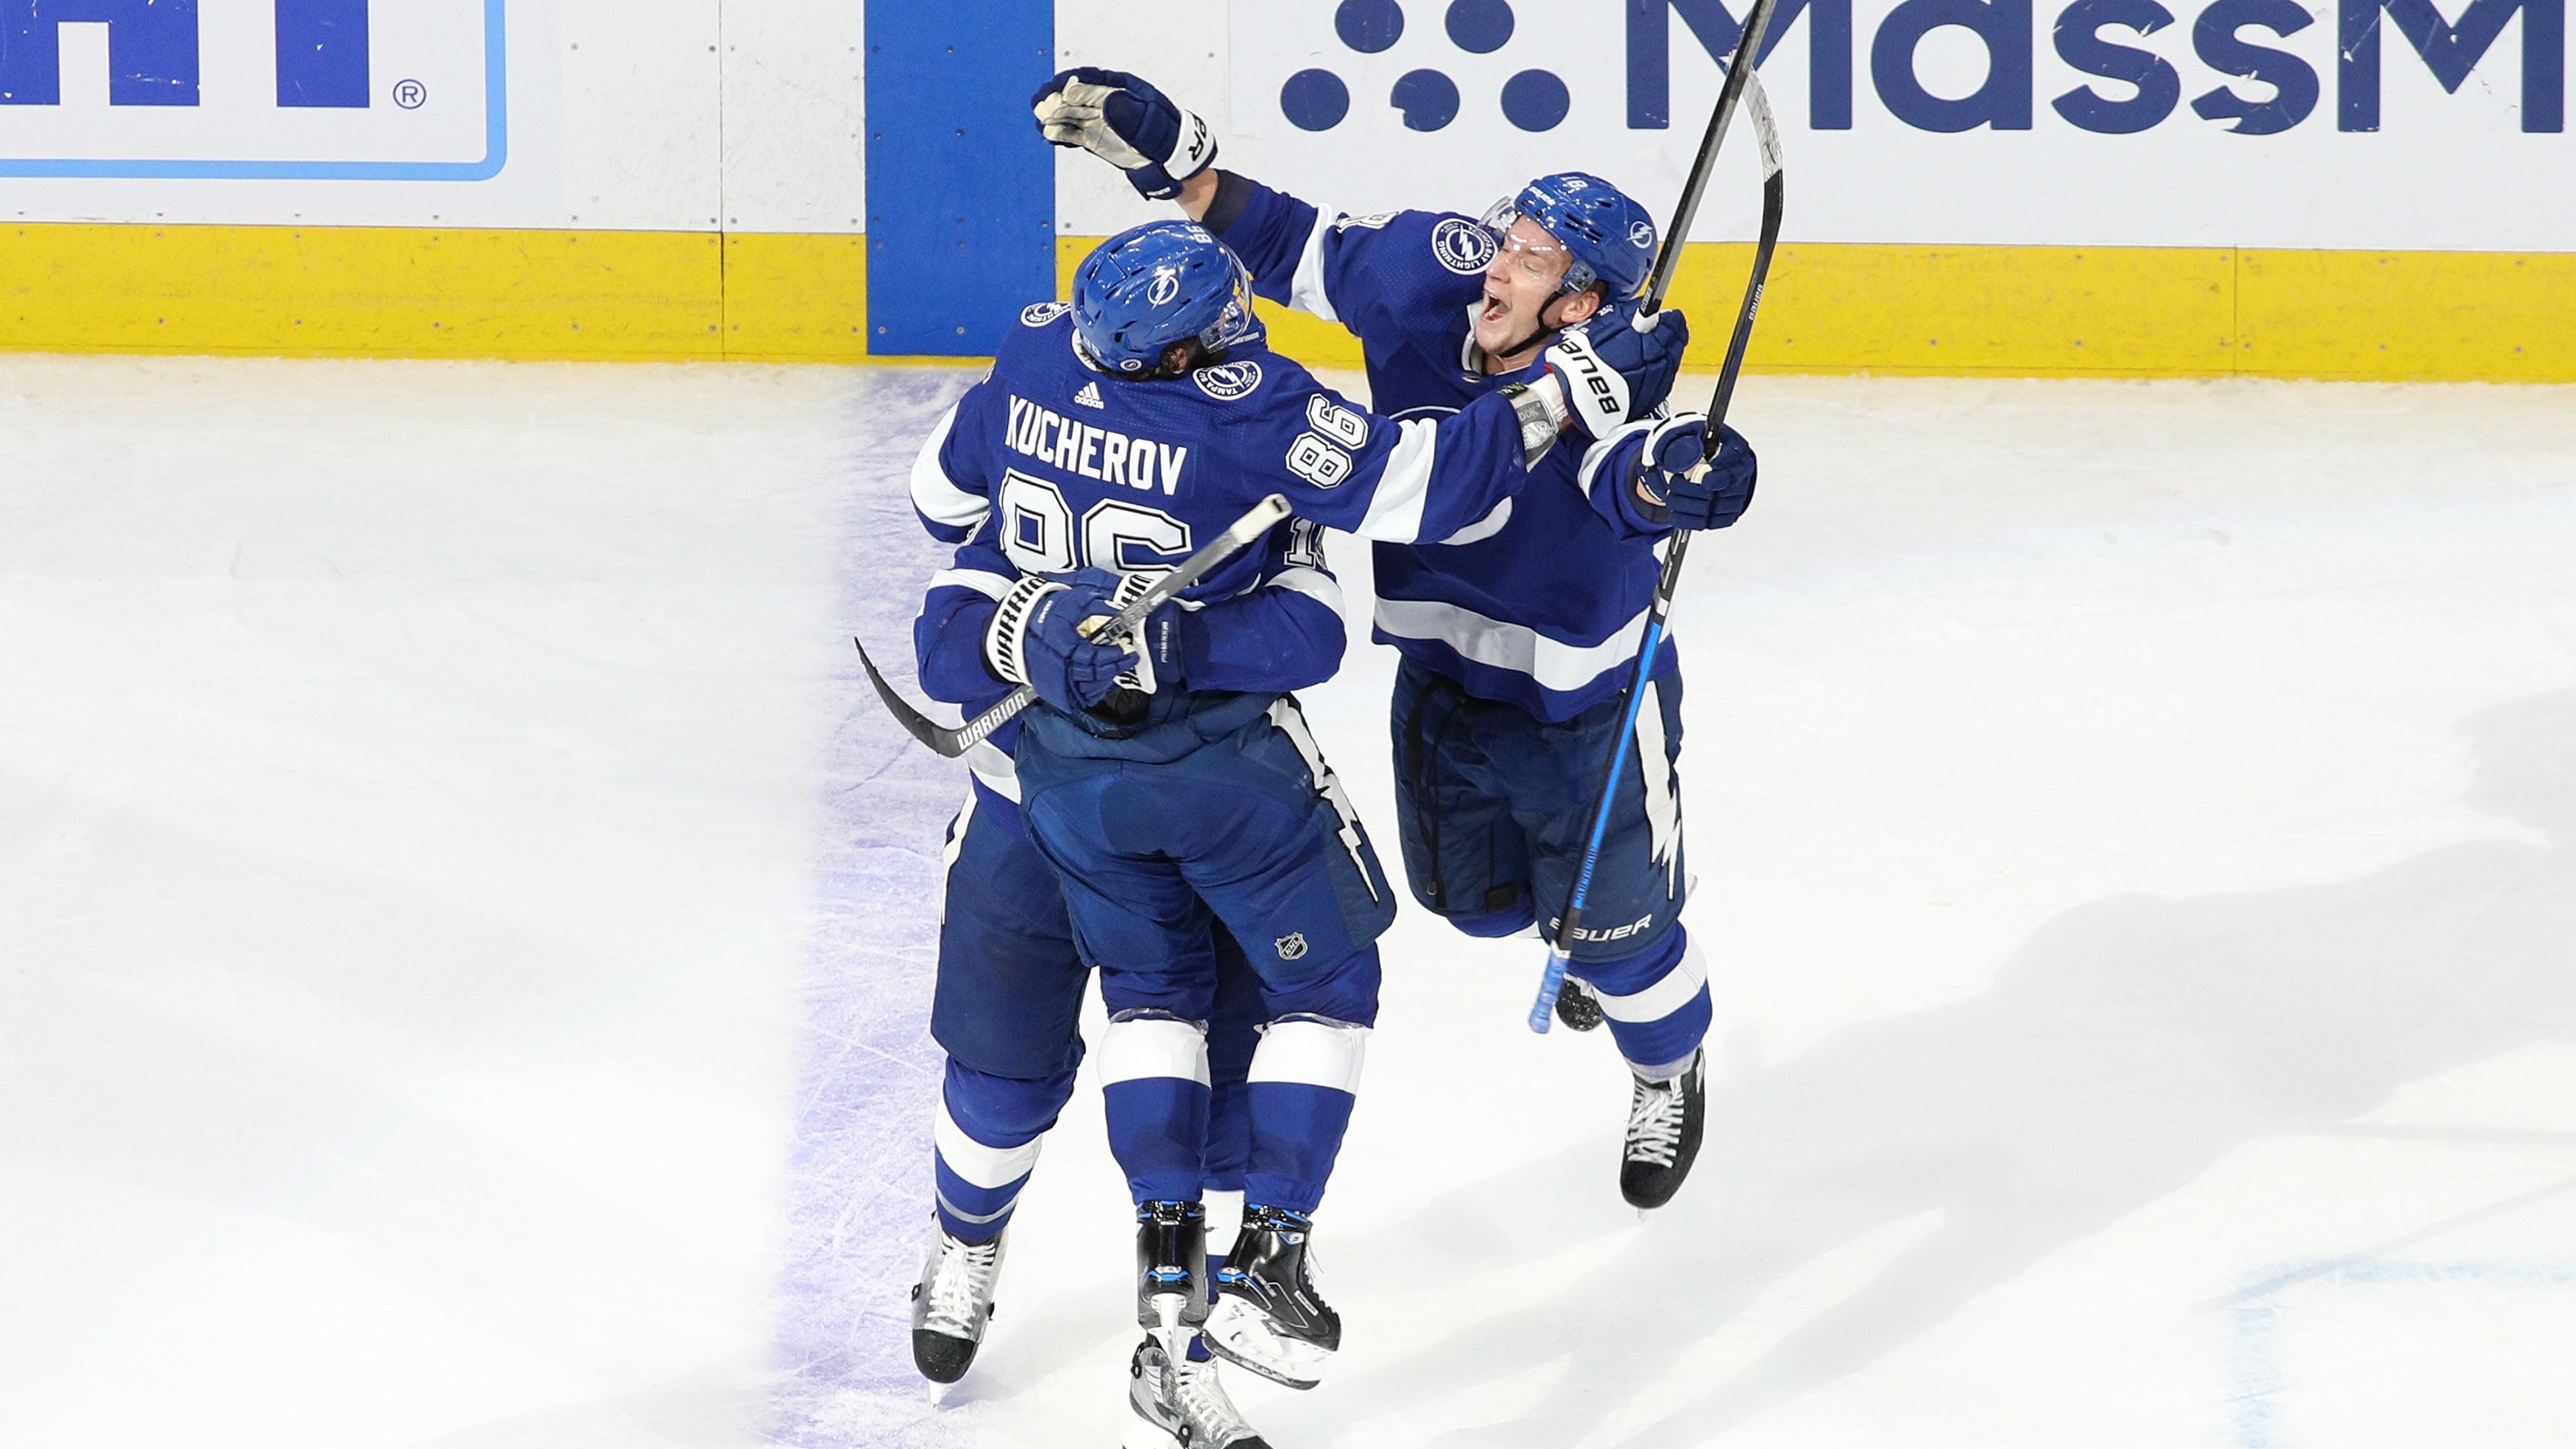
[[[889,661],[909,659],[922,584],[948,548],[912,517],[920,440],[974,383],[948,368],[871,371],[850,414],[840,620]],[[909,687],[909,669],[894,674]],[[886,718],[845,649],[845,713],[824,759],[814,950],[804,991],[811,1050],[796,1120],[781,1284],[781,1398],[770,1436],[814,1449],[956,1441],[912,1369],[904,1289],[927,1217],[930,1042],[940,829],[966,775]]]

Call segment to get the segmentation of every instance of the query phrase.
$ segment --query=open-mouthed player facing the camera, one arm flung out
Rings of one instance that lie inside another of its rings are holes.
[[[1566,329],[1646,281],[1656,226],[1615,185],[1533,180],[1484,219],[1342,216],[1216,170],[1206,121],[1139,77],[1069,69],[1033,98],[1041,134],[1126,170],[1226,239],[1257,291],[1360,337],[1370,396],[1437,417],[1520,386]],[[1667,319],[1669,324],[1669,319]],[[1754,456],[1708,422],[1636,417],[1543,463],[1553,484],[1453,535],[1381,540],[1373,638],[1396,672],[1396,813],[1414,898],[1473,937],[1522,934],[1571,896],[1620,695],[1674,528],[1726,528],[1752,502]],[[1636,443],[1636,445],[1631,445]],[[1682,674],[1667,649],[1638,710],[1558,1014],[1607,1017],[1633,1073],[1620,1194],[1662,1207],[1700,1148],[1708,970],[1680,924]]]

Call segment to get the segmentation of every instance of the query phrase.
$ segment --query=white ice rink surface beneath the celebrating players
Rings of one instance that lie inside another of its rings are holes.
[[[1126,1434],[1090,1089],[943,1408],[902,1341],[963,777],[850,636],[971,378],[0,358],[0,1441]],[[2576,389],[1736,420],[1700,1168],[1623,1210],[1610,1045],[1409,909],[1270,1444],[2566,1444]],[[1309,708],[1394,857],[1388,677]]]

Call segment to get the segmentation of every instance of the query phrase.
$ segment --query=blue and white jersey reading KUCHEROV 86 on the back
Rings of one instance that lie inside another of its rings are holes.
[[[912,468],[922,525],[963,543],[914,623],[922,690],[976,713],[1007,685],[984,669],[992,605],[1028,574],[1162,571],[1267,494],[1293,517],[1182,592],[1193,690],[1285,692],[1340,667],[1340,589],[1321,528],[1440,538],[1528,481],[1504,399],[1394,422],[1249,342],[1182,378],[1115,378],[1074,353],[1064,304],[1020,314],[992,373],[940,417]],[[1015,798],[1007,726],[969,757]]]

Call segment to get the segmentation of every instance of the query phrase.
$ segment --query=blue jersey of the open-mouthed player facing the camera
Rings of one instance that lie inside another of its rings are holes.
[[[1538,365],[1484,371],[1473,311],[1494,239],[1473,219],[1342,216],[1260,183],[1231,185],[1249,190],[1221,237],[1252,268],[1255,291],[1360,337],[1381,412],[1443,417],[1538,376]],[[1520,497],[1461,533],[1378,543],[1373,638],[1540,721],[1574,718],[1625,687],[1669,533],[1628,486],[1646,427],[1556,448]],[[1667,643],[1656,674],[1674,667]]]

